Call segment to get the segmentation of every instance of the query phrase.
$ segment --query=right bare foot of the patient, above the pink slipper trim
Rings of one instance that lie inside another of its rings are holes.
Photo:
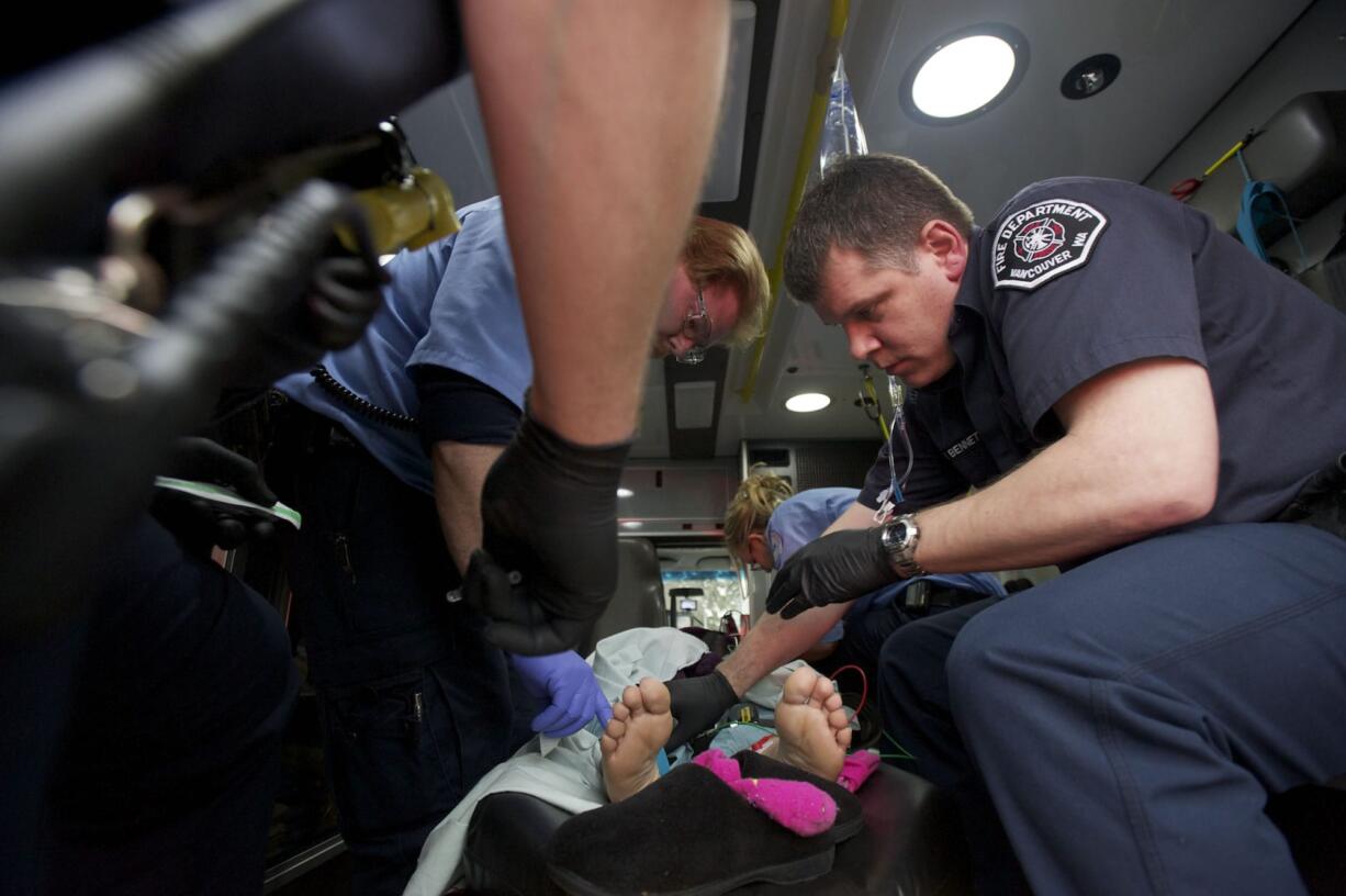
[[[775,706],[779,735],[774,748],[765,751],[781,761],[836,780],[851,745],[851,728],[841,696],[832,681],[808,666],[790,673]]]

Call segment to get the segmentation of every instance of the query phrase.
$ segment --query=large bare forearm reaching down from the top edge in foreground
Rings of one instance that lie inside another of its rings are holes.
[[[730,5],[462,11],[533,351],[530,413],[577,444],[623,441],[709,159]]]

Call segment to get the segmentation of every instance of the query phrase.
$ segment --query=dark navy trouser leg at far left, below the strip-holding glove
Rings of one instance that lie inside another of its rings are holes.
[[[143,517],[65,643],[55,748],[30,744],[51,752],[39,892],[260,893],[299,686],[279,613]]]

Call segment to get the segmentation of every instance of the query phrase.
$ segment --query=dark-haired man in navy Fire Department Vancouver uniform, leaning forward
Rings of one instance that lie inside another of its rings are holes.
[[[1047,180],[981,229],[891,156],[810,191],[786,284],[911,387],[914,456],[892,522],[880,456],[767,609],[1066,569],[883,648],[888,731],[958,794],[981,889],[1022,889],[1018,856],[1043,895],[1304,892],[1263,807],[1346,772],[1342,496],[1275,519],[1342,463],[1346,316],[1147,188]]]

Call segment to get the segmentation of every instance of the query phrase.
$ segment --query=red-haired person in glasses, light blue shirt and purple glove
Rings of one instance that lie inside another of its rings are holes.
[[[429,829],[509,755],[505,655],[456,589],[482,544],[483,482],[521,428],[534,367],[501,200],[459,215],[459,233],[388,264],[384,307],[358,343],[316,375],[277,383],[295,406],[267,475],[304,515],[291,584],[361,893],[401,892]],[[767,291],[752,238],[696,218],[647,354],[686,361],[751,342]],[[563,510],[588,506],[588,471],[563,479],[571,494],[525,490],[507,514],[548,535],[569,519]],[[610,491],[598,498],[614,498],[615,482]],[[583,539],[564,544],[584,556]],[[540,700],[534,732],[607,722],[611,706],[573,650],[509,657]]]

